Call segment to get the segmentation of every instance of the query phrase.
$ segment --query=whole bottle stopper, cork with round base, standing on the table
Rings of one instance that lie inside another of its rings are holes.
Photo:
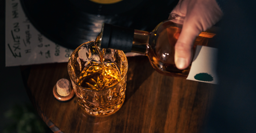
[[[53,87],[53,95],[60,102],[70,101],[75,95],[69,80],[62,78]]]

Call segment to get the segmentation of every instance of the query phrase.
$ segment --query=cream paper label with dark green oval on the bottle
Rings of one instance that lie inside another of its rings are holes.
[[[195,56],[187,80],[218,84],[216,72],[218,49],[196,46]]]

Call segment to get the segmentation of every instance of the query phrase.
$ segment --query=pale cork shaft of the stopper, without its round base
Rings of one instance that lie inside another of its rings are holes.
[[[56,83],[56,87],[57,93],[62,97],[68,96],[71,92],[70,81],[65,78],[58,80],[58,82]]]

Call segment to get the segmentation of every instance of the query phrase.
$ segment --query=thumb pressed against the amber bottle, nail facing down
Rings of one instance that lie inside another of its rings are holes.
[[[193,24],[184,22],[175,44],[175,65],[178,69],[186,69],[191,63],[192,47],[200,32]]]

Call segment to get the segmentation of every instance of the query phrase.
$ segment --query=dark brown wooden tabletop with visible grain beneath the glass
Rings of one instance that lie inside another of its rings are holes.
[[[55,133],[198,133],[214,85],[161,75],[146,56],[128,57],[125,103],[115,114],[84,113],[77,98],[56,100],[52,88],[70,80],[67,63],[22,66],[26,91],[38,114]]]

